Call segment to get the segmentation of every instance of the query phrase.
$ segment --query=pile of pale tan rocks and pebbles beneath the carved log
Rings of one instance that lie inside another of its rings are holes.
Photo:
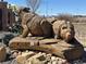
[[[15,57],[17,64],[70,64],[66,60],[50,53],[25,51]]]

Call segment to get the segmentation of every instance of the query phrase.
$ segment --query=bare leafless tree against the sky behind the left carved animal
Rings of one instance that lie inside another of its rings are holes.
[[[33,12],[35,12],[40,4],[40,0],[26,0],[26,2],[27,7],[29,7]]]

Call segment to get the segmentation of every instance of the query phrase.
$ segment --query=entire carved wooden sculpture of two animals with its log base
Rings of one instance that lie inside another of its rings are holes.
[[[21,37],[26,37],[30,33],[34,37],[21,38],[16,37],[9,43],[11,49],[28,49],[52,53],[62,59],[75,60],[82,56],[84,52],[83,46],[75,39],[74,26],[67,21],[56,21],[52,26],[38,15],[29,15],[23,12],[22,26],[24,28]],[[27,18],[27,17],[32,18]],[[25,18],[25,20],[24,20]],[[26,20],[27,18],[27,20]],[[53,30],[52,30],[53,29]],[[50,37],[53,31],[54,38]]]

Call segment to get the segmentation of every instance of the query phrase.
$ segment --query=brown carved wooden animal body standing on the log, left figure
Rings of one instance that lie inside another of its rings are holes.
[[[21,37],[27,37],[30,33],[33,36],[50,37],[52,34],[51,24],[45,18],[29,10],[21,9],[23,33]]]

